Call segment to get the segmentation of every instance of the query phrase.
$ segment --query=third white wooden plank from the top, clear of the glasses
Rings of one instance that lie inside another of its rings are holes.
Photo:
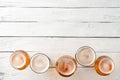
[[[120,23],[0,23],[0,36],[120,37]]]

